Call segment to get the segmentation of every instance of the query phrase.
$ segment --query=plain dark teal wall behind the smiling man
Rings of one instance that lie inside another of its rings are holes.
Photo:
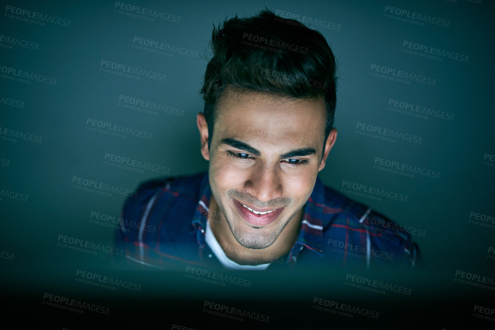
[[[91,287],[70,282],[76,269],[114,269],[106,256],[56,246],[58,235],[111,245],[114,230],[90,223],[90,214],[118,217],[125,199],[121,194],[107,197],[71,188],[73,177],[135,189],[140,182],[161,175],[104,165],[105,153],[163,166],[169,169],[168,176],[207,170],[199,153],[196,115],[203,108],[199,90],[209,58],[206,46],[212,24],[236,13],[253,15],[266,4],[274,11],[340,26],[339,30],[312,26],[325,36],[339,60],[338,139],[319,177],[339,190],[343,181],[348,181],[408,196],[407,202],[400,202],[347,194],[401,225],[426,232],[413,239],[435,275],[416,279],[415,292],[425,290],[425,296],[443,292],[446,299],[446,292],[452,290],[463,296],[493,294],[453,283],[456,270],[495,277],[495,260],[488,256],[489,247],[495,247],[495,223],[493,228],[469,223],[470,212],[495,216],[495,167],[484,164],[485,154],[495,154],[492,1],[128,2],[180,16],[180,22],[149,22],[121,15],[114,12],[114,1],[7,1],[2,5],[0,35],[39,46],[37,50],[0,47],[0,65],[56,78],[56,85],[0,78],[0,99],[24,102],[20,108],[0,101],[1,130],[43,137],[42,143],[0,140],[0,158],[4,160],[0,160],[0,191],[29,195],[27,201],[5,196],[0,200],[0,249],[14,254],[12,260],[0,260],[6,289],[27,294],[40,291],[36,293],[39,301],[46,288],[88,294]],[[71,25],[47,22],[40,26],[9,18],[5,5],[68,19]],[[450,26],[419,26],[388,18],[384,16],[387,5],[440,17],[449,20]],[[199,55],[174,53],[169,57],[139,50],[132,47],[134,37],[188,48]],[[468,55],[469,59],[437,61],[407,54],[402,51],[404,41]],[[104,73],[99,71],[101,60],[163,73],[166,80],[132,80]],[[436,84],[411,81],[406,85],[374,77],[370,75],[372,64],[432,77]],[[167,112],[155,116],[123,108],[118,106],[121,94],[181,109],[183,116]],[[388,110],[389,99],[453,113],[454,119],[419,119],[393,112]],[[120,139],[91,132],[85,129],[87,118],[151,132],[152,138]],[[394,143],[361,136],[355,133],[358,122],[412,134],[422,141]],[[375,157],[431,169],[440,172],[440,177],[416,174],[409,178],[380,171],[373,168]],[[128,276],[147,281],[146,272],[133,274]],[[260,274],[252,277],[258,279]],[[159,292],[169,287],[153,285]],[[107,294],[99,290],[93,296]],[[153,291],[148,286],[144,292],[151,295]],[[495,308],[493,302],[491,306]],[[476,320],[469,315],[469,308],[472,306],[465,309],[467,317]]]

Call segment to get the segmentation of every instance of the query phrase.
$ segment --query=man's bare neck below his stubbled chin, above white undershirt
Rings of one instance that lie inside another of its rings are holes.
[[[280,257],[291,250],[299,235],[303,212],[301,208],[291,221],[289,221],[287,226],[285,226],[272,245],[264,249],[250,249],[242,246],[236,240],[230,230],[227,220],[225,220],[225,215],[223,212],[218,212],[219,207],[213,194],[211,195],[209,209],[208,221],[213,235],[227,257],[240,265],[260,265],[271,262],[282,262],[280,261]],[[212,213],[216,215],[220,214],[220,216],[212,217]]]

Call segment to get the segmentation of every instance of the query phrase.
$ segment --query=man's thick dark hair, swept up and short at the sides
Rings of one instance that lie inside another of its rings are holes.
[[[291,98],[323,97],[326,142],[334,122],[337,77],[334,54],[321,33],[265,9],[213,26],[210,47],[213,56],[201,89],[208,148],[218,101],[227,87]]]

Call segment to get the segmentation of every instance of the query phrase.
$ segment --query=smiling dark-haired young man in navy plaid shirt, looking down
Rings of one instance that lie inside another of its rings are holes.
[[[264,10],[214,28],[211,44],[197,117],[208,172],[149,181],[126,200],[116,240],[127,258],[165,269],[417,268],[407,233],[317,178],[337,138],[325,38]]]

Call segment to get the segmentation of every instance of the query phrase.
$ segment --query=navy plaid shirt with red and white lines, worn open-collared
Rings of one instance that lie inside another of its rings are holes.
[[[211,196],[207,172],[148,181],[137,191],[124,203],[122,229],[115,236],[129,260],[164,269],[223,268],[205,243]],[[405,227],[325,187],[320,179],[304,205],[293,247],[283,257],[266,260],[272,261],[267,270],[335,264],[413,270],[423,264]]]

